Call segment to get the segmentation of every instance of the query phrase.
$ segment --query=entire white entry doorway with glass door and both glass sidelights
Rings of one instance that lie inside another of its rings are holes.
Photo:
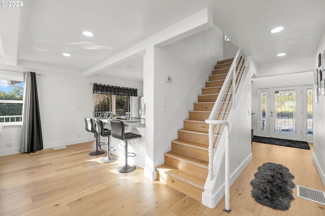
[[[313,140],[312,86],[258,89],[258,135]]]

